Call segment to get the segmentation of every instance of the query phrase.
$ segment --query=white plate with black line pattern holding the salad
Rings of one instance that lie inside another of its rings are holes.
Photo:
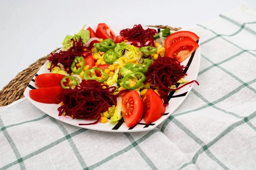
[[[87,26],[88,27],[88,26]],[[94,30],[96,30],[96,26],[90,26]],[[116,26],[116,25],[110,25],[110,28],[113,29],[113,31],[116,33],[116,35],[119,34],[119,31],[124,29],[124,28],[132,28],[133,26]],[[148,27],[143,27],[148,28]],[[160,29],[158,28],[153,28],[156,29],[158,32]],[[198,42],[198,44],[200,44]],[[198,75],[198,69],[200,65],[200,46],[198,49],[190,56],[188,57],[185,61],[181,63],[181,65],[186,65],[188,66],[184,72],[186,72],[188,75],[186,76],[186,79],[191,81],[195,80]],[[43,73],[49,73],[49,70],[47,69],[47,64],[48,61],[40,68],[40,70],[37,72],[35,77],[39,74]],[[110,120],[108,120],[107,123],[97,123],[96,125],[84,125],[81,126],[79,123],[89,123],[89,122],[94,122],[95,120],[83,120],[83,119],[71,119],[68,116],[58,116],[58,107],[60,105],[55,105],[55,104],[44,104],[44,103],[39,103],[35,102],[29,97],[29,91],[31,89],[37,88],[35,86],[35,77],[33,77],[32,81],[29,82],[29,85],[27,86],[26,90],[24,91],[24,96],[33,104],[35,107],[43,111],[44,113],[48,114],[49,116],[52,116],[53,118],[65,122],[70,125],[82,127],[82,128],[87,128],[87,129],[92,129],[92,130],[100,130],[100,131],[107,131],[107,132],[140,132],[140,131],[146,131],[146,130],[152,130],[157,125],[162,123],[165,119],[167,119],[169,116],[172,115],[172,113],[180,106],[180,104],[186,99],[188,96],[189,92],[191,91],[193,84],[187,85],[183,88],[181,88],[178,92],[171,92],[169,94],[169,105],[166,107],[166,113],[157,121],[151,123],[150,125],[146,125],[145,122],[142,120],[140,123],[134,127],[128,128],[125,123],[123,122],[123,119],[121,119],[119,122],[116,124],[112,125],[110,124]]]

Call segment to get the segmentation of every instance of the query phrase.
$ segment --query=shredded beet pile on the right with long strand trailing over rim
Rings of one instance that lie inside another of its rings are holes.
[[[158,93],[163,99],[164,105],[169,105],[169,91],[179,90],[192,82],[196,82],[198,84],[197,81],[193,80],[178,88],[169,88],[172,85],[177,86],[177,82],[187,75],[183,73],[183,68],[186,67],[180,65],[180,62],[178,62],[176,59],[171,57],[158,57],[158,59],[155,60],[151,66],[149,66],[148,71],[145,73],[145,76],[147,77],[146,82],[149,82],[152,86],[159,88]]]

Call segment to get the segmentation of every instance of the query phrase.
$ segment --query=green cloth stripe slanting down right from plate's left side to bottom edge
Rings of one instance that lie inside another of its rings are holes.
[[[79,150],[77,149],[76,147],[76,144],[74,143],[73,139],[70,137],[69,133],[67,132],[67,130],[65,129],[65,127],[63,125],[61,125],[56,119],[52,118],[52,117],[49,117],[50,120],[55,123],[60,129],[61,129],[61,132],[67,136],[67,141],[69,142],[70,144],[70,147],[72,148],[73,152],[75,153],[76,155],[76,158],[78,159],[79,163],[81,164],[81,167],[84,169],[87,167],[86,163],[84,162],[84,159],[83,157],[81,156]]]

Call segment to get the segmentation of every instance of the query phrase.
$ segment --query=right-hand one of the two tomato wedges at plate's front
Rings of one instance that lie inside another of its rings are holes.
[[[143,98],[144,121],[147,125],[157,121],[165,113],[161,97],[151,88],[144,94]]]

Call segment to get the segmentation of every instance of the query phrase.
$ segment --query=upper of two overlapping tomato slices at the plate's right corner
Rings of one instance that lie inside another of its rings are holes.
[[[197,36],[197,34],[190,32],[190,31],[177,31],[175,33],[172,33],[171,35],[169,35],[165,42],[164,42],[164,47],[166,48],[166,50],[168,50],[168,48],[174,44],[175,42],[178,42],[180,40],[183,39],[192,39],[194,41],[197,41],[199,39],[199,37]]]

